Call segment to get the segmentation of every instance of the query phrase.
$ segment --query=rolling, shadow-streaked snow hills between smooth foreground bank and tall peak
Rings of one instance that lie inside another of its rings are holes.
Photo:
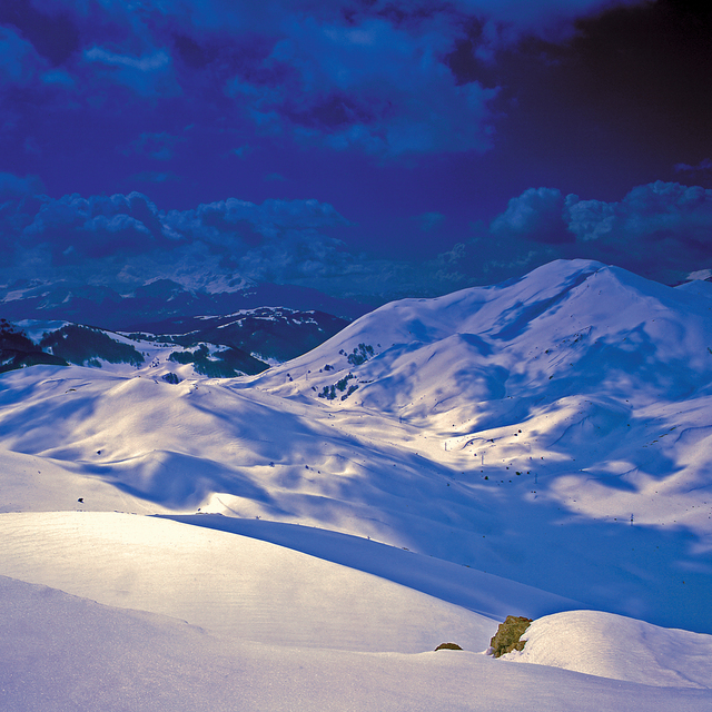
[[[301,524],[712,630],[712,496],[696,435],[711,422],[705,400],[650,406],[629,428],[624,405],[567,397],[453,438],[235,382],[34,367],[2,385],[6,511],[200,510]]]

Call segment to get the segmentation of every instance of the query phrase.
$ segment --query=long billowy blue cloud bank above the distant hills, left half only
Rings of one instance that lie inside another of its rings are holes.
[[[0,185],[9,187],[10,199],[0,204],[0,235],[8,238],[6,254],[13,263],[4,269],[13,273],[31,265],[53,278],[69,270],[112,284],[129,274],[148,278],[151,270],[195,278],[227,268],[248,279],[298,281],[343,271],[354,260],[328,236],[348,222],[317,200],[256,205],[229,198],[164,211],[139,192],[30,199],[19,194],[31,189],[31,178],[0,175]]]

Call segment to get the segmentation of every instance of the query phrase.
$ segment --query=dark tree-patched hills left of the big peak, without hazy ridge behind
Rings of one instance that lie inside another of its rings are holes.
[[[188,375],[235,377],[258,374],[310,350],[348,322],[320,312],[283,307],[244,309],[229,316],[171,318],[132,333],[113,333],[69,322],[0,322],[0,373],[36,364],[130,366],[147,364],[178,383]],[[190,366],[192,374],[178,366]]]

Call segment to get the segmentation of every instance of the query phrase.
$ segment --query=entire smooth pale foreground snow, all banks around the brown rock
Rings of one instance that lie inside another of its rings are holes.
[[[535,621],[531,647],[496,661],[477,652],[496,621],[266,542],[119,513],[3,514],[0,526],[0,694],[12,712],[712,702],[710,635],[574,611]],[[328,532],[309,536],[334,547]],[[369,544],[352,543],[353,563]],[[432,652],[435,640],[465,652]]]

